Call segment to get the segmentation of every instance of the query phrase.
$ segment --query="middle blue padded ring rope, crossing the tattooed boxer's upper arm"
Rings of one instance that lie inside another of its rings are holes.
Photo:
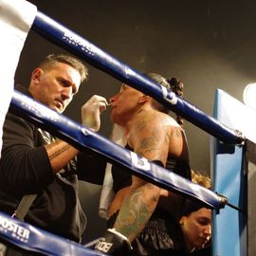
[[[10,105],[24,119],[36,122],[37,125],[58,137],[62,137],[82,151],[89,151],[105,157],[112,163],[119,163],[127,167],[129,169],[127,171],[132,174],[138,175],[161,188],[195,198],[211,209],[218,210],[225,206],[225,200],[218,194],[120,147],[109,139],[93,133],[80,123],[58,114],[18,91],[14,91]]]

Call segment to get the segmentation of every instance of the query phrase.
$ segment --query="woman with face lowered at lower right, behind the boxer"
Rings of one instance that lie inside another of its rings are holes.
[[[210,177],[192,170],[192,182],[211,188]],[[176,217],[172,217],[173,247],[161,255],[210,256],[211,210],[188,198],[179,197]]]

